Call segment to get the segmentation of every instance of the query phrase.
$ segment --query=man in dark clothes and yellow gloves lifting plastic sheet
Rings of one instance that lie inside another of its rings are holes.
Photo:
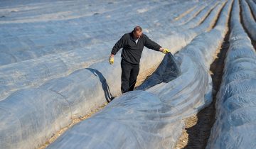
[[[150,40],[144,33],[142,28],[136,26],[131,33],[126,33],[120,38],[114,45],[110,55],[110,65],[114,63],[114,55],[118,50],[122,49],[122,84],[121,91],[129,92],[134,89],[137,82],[137,76],[139,75],[139,62],[142,57],[142,50],[146,48],[161,51],[162,53],[169,53],[168,49],[161,48],[161,46],[154,41]]]

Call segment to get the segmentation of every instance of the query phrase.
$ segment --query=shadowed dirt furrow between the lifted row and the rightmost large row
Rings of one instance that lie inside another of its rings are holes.
[[[228,38],[230,31],[225,35],[225,39],[221,48],[216,51],[216,58],[210,65],[211,77],[213,79],[213,102],[210,106],[201,110],[197,115],[186,118],[186,128],[183,130],[181,138],[178,140],[176,149],[178,148],[206,148],[210,129],[215,122],[215,97],[220,88],[223,75],[225,55],[229,48]]]

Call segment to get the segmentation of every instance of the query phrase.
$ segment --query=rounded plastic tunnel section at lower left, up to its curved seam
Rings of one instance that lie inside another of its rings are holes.
[[[37,148],[46,136],[71,123],[68,102],[43,89],[15,92],[1,101],[0,113],[1,148]]]

